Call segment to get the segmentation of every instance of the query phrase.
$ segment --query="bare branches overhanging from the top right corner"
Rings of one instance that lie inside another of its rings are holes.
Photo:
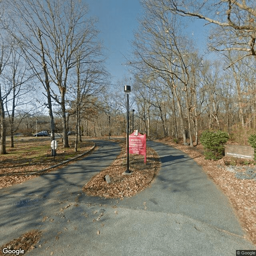
[[[142,0],[154,6],[164,8],[180,16],[190,16],[214,24],[210,36],[210,48],[218,52],[240,51],[239,58],[254,56],[256,40],[256,2],[254,0],[217,0],[217,1],[177,1],[177,0]]]

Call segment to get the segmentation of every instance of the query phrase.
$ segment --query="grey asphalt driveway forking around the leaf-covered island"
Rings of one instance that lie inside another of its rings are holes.
[[[235,256],[256,250],[227,198],[183,152],[156,142],[162,166],[150,187],[124,200],[86,196],[81,188],[109,166],[120,147],[0,190],[0,245],[32,229],[41,247],[25,255]]]

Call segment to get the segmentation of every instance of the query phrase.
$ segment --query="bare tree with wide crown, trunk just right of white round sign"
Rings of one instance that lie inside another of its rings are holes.
[[[40,59],[44,82],[49,83],[49,86],[44,84],[47,96],[49,88],[51,97],[60,105],[63,146],[68,147],[65,104],[69,74],[70,70],[76,68],[77,50],[83,47],[85,60],[95,49],[91,46],[98,44],[95,20],[86,18],[88,8],[80,1],[16,0],[10,5],[15,6],[13,12],[22,21],[22,26],[16,26],[16,30],[22,35],[24,45],[33,52],[29,54],[30,58],[34,57],[38,64]]]

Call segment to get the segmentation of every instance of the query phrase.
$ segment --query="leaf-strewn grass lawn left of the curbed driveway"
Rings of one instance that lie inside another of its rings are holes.
[[[74,140],[75,137],[70,136],[70,148],[63,148],[62,140],[58,138],[57,155],[54,159],[51,156],[50,137],[15,137],[14,148],[10,147],[10,138],[7,138],[8,154],[0,155],[0,188],[21,183],[31,172],[74,158],[94,146],[94,143],[83,140],[78,144],[78,152],[74,152]]]

